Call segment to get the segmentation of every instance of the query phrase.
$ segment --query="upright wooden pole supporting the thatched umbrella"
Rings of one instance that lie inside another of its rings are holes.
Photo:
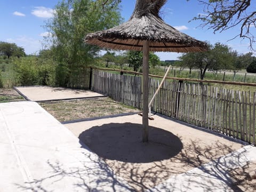
[[[142,68],[142,142],[148,142],[148,97],[149,97],[149,42],[143,42],[143,68]]]

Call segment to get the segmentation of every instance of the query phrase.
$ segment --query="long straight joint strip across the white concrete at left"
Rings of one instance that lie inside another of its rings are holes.
[[[9,139],[10,145],[13,149],[13,153],[14,153],[15,157],[17,158],[17,164],[18,164],[19,169],[21,171],[23,181],[25,182],[25,185],[27,187],[27,191],[32,191],[31,190],[32,187],[31,187],[31,184],[30,184],[33,181],[32,176],[30,174],[30,171],[28,169],[28,166],[26,164],[25,159],[23,158],[23,156],[21,154],[19,146],[16,145],[15,139],[13,137],[13,133],[10,129],[9,124],[6,121],[6,117],[5,117],[3,111],[0,108],[0,115],[1,114],[2,114],[2,117],[4,118],[4,124],[5,124],[4,130],[6,132],[6,135],[7,135],[8,139]]]

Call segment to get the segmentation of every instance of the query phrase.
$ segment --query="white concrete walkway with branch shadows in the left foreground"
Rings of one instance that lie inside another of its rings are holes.
[[[132,191],[35,102],[0,104],[0,191]]]

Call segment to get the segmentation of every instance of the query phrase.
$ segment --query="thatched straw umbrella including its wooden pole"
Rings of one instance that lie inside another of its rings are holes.
[[[100,47],[143,51],[143,142],[148,141],[149,51],[198,52],[207,50],[206,43],[181,33],[159,17],[159,10],[166,1],[137,0],[129,21],[85,37],[85,43]]]

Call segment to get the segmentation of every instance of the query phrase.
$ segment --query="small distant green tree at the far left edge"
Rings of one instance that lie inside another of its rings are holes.
[[[5,55],[9,59],[12,56],[24,57],[26,53],[23,47],[19,47],[15,43],[0,42],[0,55]]]

